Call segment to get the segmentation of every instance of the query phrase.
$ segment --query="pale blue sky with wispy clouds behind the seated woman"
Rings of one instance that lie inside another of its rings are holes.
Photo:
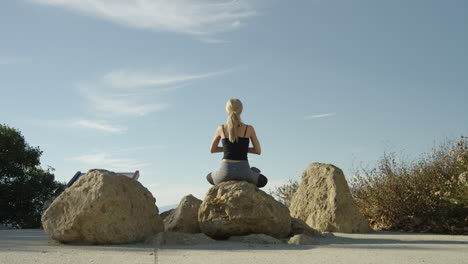
[[[0,122],[42,166],[139,169],[158,206],[202,199],[229,98],[273,187],[311,162],[350,176],[468,135],[468,2],[0,3]]]

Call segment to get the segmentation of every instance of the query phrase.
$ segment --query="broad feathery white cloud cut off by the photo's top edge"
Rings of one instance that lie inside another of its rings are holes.
[[[29,0],[133,28],[195,36],[232,31],[257,14],[252,0]]]

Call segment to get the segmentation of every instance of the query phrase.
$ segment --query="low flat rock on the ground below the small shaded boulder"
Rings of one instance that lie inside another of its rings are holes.
[[[146,244],[158,246],[211,244],[216,241],[203,233],[161,232],[146,240]]]

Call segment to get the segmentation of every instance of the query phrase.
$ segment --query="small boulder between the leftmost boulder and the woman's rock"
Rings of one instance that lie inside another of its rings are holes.
[[[200,233],[198,225],[198,209],[202,201],[192,195],[187,195],[179,206],[164,219],[166,231]]]

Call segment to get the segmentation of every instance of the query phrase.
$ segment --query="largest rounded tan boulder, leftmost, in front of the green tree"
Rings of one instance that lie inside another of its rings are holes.
[[[45,232],[62,243],[127,244],[164,231],[151,193],[138,181],[90,170],[42,215]]]

